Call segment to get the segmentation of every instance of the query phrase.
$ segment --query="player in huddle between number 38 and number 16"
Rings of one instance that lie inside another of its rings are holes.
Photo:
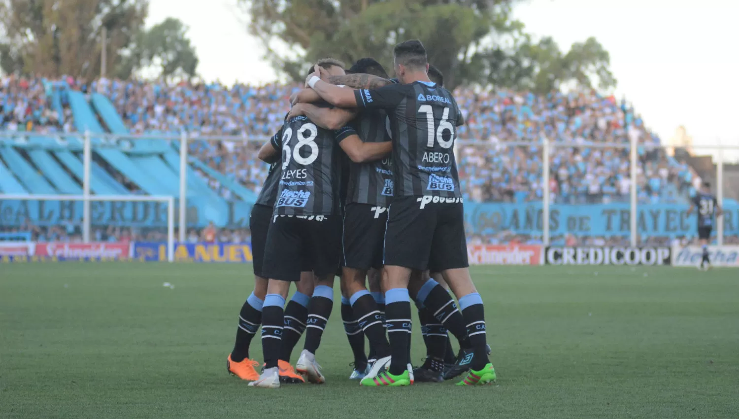
[[[381,65],[372,58],[358,61],[350,72],[374,72],[386,76]],[[343,122],[339,109],[321,109],[309,103],[297,103],[290,115],[307,115],[319,126],[328,128],[331,123]],[[373,356],[378,358],[372,367],[382,369],[390,360],[390,347],[378,302],[367,290],[365,279],[370,268],[381,268],[382,265],[387,205],[392,197],[392,168],[389,158],[380,157],[389,155],[392,144],[386,132],[385,112],[362,112],[351,125],[359,136],[349,136],[339,142],[350,158],[341,243],[341,288],[346,294],[345,301],[342,299],[341,314],[355,355],[350,378],[361,379],[372,371],[364,356],[362,332],[369,339]]]

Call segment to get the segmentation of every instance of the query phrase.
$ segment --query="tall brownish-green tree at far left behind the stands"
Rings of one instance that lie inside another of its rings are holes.
[[[115,67],[148,6],[148,0],[0,0],[0,64],[6,72],[22,63],[24,72],[93,78],[101,70],[102,28],[106,61]]]

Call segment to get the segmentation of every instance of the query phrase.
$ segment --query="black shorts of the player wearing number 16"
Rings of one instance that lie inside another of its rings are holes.
[[[385,230],[384,265],[434,272],[469,267],[462,200],[395,197]]]

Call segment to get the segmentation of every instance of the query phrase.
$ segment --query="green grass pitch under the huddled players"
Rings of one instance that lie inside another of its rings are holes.
[[[475,268],[497,385],[361,388],[334,310],[318,353],[327,384],[279,390],[225,372],[250,270],[0,265],[0,417],[739,416],[736,270]]]

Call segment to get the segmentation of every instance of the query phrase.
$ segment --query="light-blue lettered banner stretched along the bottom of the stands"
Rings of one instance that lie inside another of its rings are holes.
[[[177,204],[175,204],[177,205]],[[163,202],[92,201],[92,225],[160,227],[167,225]],[[688,205],[644,204],[637,208],[639,234],[650,236],[695,236],[695,214],[687,214]],[[724,205],[724,234],[739,235],[739,205]],[[208,221],[226,228],[248,228],[251,202],[188,202],[188,226],[204,227]],[[513,231],[517,234],[542,235],[542,203],[464,203],[464,214],[473,234]],[[61,225],[82,222],[82,202],[0,200],[0,225],[20,226],[26,219],[35,225]],[[549,214],[551,236],[627,236],[630,211],[626,203],[553,204]]]

